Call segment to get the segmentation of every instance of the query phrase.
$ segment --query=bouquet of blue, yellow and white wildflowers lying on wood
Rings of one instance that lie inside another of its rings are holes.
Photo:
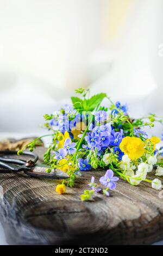
[[[52,131],[52,141],[44,155],[45,163],[51,166],[47,172],[58,168],[70,175],[66,184],[63,181],[57,188],[58,192],[65,191],[65,185],[74,186],[76,176],[83,171],[97,168],[108,169],[99,180],[102,188],[92,177],[90,190],[84,191],[82,200],[90,199],[95,192],[109,196],[109,189],[116,187],[117,176],[131,185],[151,182],[159,190],[161,180],[151,180],[147,175],[154,167],[155,175],[163,175],[163,147],[156,149],[160,138],[149,138],[145,127],[153,127],[156,121],[162,124],[162,117],[149,114],[131,119],[126,105],[112,102],[105,93],[92,97],[89,93],[89,89],[77,89],[79,96],[71,97],[72,105],[44,116],[45,128]],[[102,105],[103,99],[108,100],[108,107]],[[37,139],[27,145],[29,150],[34,149],[36,142]]]

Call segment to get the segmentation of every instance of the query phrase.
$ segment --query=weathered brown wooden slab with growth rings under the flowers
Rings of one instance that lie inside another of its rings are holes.
[[[42,159],[43,147],[36,149]],[[117,182],[110,197],[92,202],[79,195],[91,176],[98,181],[104,171],[82,172],[74,188],[59,195],[55,180],[26,174],[0,174],[0,212],[10,245],[137,245],[163,239],[163,198],[151,185]],[[154,174],[153,174],[154,177]],[[162,193],[163,194],[163,193]]]

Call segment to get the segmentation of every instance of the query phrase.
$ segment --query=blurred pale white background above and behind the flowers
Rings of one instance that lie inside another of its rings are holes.
[[[40,135],[43,114],[83,86],[134,117],[162,115],[162,11],[162,0],[0,0],[0,139]]]

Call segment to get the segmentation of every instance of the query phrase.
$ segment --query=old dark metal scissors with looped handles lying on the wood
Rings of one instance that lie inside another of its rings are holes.
[[[32,152],[23,152],[23,156],[30,156],[28,160],[9,158],[9,155],[17,155],[17,151],[0,150],[0,167],[4,167],[4,169],[0,169],[0,173],[18,173],[23,171],[29,176],[56,180],[69,177],[67,173],[59,169],[52,169],[51,173],[47,173],[47,168],[51,167],[46,166],[45,164],[36,163],[39,160],[39,157]]]

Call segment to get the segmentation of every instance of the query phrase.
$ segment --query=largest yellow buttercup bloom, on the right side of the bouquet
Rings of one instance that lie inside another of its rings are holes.
[[[128,155],[131,160],[138,159],[145,153],[145,143],[136,137],[124,137],[120,144],[120,149],[125,155]]]

